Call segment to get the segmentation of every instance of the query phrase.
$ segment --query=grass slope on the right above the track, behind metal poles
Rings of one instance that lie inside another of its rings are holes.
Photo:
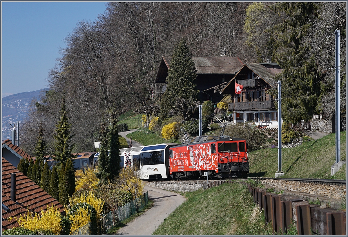
[[[346,160],[346,132],[341,132],[341,160]],[[250,177],[274,178],[278,169],[278,148],[249,153]],[[282,148],[282,178],[346,179],[346,165],[331,176],[335,162],[335,134],[314,141],[304,137],[301,146]]]

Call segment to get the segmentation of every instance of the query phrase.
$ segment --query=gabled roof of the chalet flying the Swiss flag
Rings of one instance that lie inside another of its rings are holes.
[[[271,87],[274,87],[274,77],[283,70],[276,63],[245,63],[242,68],[236,73],[236,75],[227,83],[227,85],[221,90],[220,93],[227,93],[228,90],[234,88],[235,80],[239,72],[249,68],[257,76],[267,82]]]

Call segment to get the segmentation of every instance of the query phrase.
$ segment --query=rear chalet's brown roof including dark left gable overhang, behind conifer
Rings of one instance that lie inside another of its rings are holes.
[[[243,66],[242,61],[238,57],[229,56],[208,56],[208,57],[197,57],[192,56],[193,62],[197,69],[197,74],[225,74],[231,75],[238,72],[238,70]],[[168,76],[168,68],[172,57],[163,56],[161,63],[159,65],[156,83],[164,83],[166,77]]]

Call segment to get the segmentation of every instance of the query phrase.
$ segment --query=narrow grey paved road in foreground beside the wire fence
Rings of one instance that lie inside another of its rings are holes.
[[[144,190],[148,191],[149,199],[154,202],[153,207],[119,229],[116,235],[151,235],[164,219],[186,200],[180,194],[163,189],[145,185]]]

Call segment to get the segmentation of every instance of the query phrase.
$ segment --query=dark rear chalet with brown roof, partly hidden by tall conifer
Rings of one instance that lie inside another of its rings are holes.
[[[219,91],[214,92],[215,87],[226,85],[243,66],[238,57],[211,56],[192,57],[192,59],[197,69],[197,79],[194,83],[196,89],[199,90],[198,100],[201,102],[205,100],[211,100],[213,103],[219,102],[222,95]],[[162,57],[157,71],[156,83],[166,83],[171,60],[171,57]],[[162,84],[162,93],[165,92],[166,88],[166,85]]]

